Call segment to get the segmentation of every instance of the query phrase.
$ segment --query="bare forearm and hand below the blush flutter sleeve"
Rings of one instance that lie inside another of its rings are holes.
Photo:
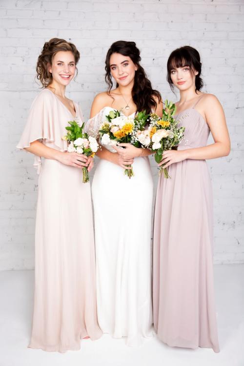
[[[45,146],[38,140],[31,142],[30,147],[25,147],[25,150],[45,159],[57,160],[58,162],[65,165],[71,165],[77,168],[87,166],[88,171],[90,171],[93,167],[93,159],[90,157],[87,158],[85,155],[78,154],[76,152],[62,152],[60,150]]]

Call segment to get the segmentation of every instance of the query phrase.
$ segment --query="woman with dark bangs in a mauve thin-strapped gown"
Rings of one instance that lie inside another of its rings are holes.
[[[180,90],[176,118],[185,126],[178,150],[163,153],[171,179],[159,179],[153,240],[153,312],[158,337],[169,346],[219,352],[213,284],[212,190],[205,159],[227,156],[223,108],[203,81],[199,53],[173,51],[170,86]],[[206,146],[211,131],[214,143]]]

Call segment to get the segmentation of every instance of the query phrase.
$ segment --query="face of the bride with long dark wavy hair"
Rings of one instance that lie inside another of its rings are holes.
[[[112,77],[121,86],[127,86],[134,81],[137,65],[129,56],[113,53],[109,60]]]

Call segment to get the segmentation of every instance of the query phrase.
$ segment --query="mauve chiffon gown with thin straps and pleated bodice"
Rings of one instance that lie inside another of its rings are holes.
[[[178,150],[206,145],[210,130],[194,106],[176,117],[179,126],[185,126]],[[186,159],[171,164],[169,175],[171,179],[159,178],[155,204],[154,327],[159,339],[169,346],[200,346],[219,352],[207,164]]]

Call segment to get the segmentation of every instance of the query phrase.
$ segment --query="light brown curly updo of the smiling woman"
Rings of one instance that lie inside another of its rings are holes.
[[[37,79],[41,81],[42,88],[46,88],[53,81],[52,74],[48,71],[48,68],[52,65],[53,58],[59,51],[72,52],[76,64],[80,60],[80,52],[73,43],[60,38],[52,38],[50,41],[45,42],[41,54],[38,57],[36,68]],[[76,71],[78,71],[77,68]]]

